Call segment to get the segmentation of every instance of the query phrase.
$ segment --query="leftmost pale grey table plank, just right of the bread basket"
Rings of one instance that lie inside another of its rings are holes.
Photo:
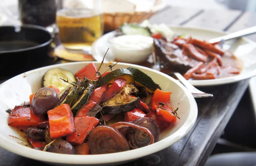
[[[191,17],[198,15],[202,12],[201,9],[197,8],[183,8],[178,6],[169,6],[165,10],[153,15],[150,19],[150,23],[154,24],[181,24],[186,22]]]

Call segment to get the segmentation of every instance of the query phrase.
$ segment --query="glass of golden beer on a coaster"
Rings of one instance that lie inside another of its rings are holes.
[[[92,43],[102,36],[100,0],[62,0],[56,23],[62,45],[68,51],[90,53]]]

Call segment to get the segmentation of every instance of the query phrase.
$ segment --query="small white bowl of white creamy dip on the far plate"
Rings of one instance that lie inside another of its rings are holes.
[[[122,35],[110,39],[111,50],[120,62],[140,63],[153,51],[153,38],[142,35]]]

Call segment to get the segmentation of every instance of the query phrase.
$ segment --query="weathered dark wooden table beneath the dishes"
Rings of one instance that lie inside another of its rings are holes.
[[[241,11],[167,6],[151,17],[150,22],[238,31],[256,25],[253,21],[255,16],[256,13]],[[256,40],[256,35],[249,38]],[[248,83],[247,79],[233,84],[200,88],[214,94],[214,97],[196,99],[198,118],[191,131],[174,145],[123,166],[204,166],[221,132],[243,97]],[[2,148],[0,148],[0,154],[1,166],[47,165],[20,157]]]

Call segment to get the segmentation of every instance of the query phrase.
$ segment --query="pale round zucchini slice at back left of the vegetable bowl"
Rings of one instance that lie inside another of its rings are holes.
[[[42,87],[49,87],[52,85],[62,91],[69,85],[69,83],[64,82],[60,78],[65,80],[68,79],[69,82],[76,82],[76,78],[71,71],[63,68],[53,68],[44,74],[42,78]]]

